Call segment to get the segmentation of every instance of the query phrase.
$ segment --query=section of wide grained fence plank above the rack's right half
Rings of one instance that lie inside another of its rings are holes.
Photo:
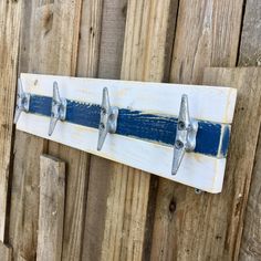
[[[201,83],[206,66],[234,66],[242,0],[180,0],[171,82]]]

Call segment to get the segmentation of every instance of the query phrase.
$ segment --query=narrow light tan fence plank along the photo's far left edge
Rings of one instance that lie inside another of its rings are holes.
[[[22,1],[0,2],[0,240],[4,241]]]

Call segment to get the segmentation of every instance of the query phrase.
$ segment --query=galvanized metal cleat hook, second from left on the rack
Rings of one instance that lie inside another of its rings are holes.
[[[66,117],[66,98],[61,98],[58,87],[58,82],[53,83],[53,100],[52,100],[52,112],[51,121],[49,125],[49,136],[53,134],[58,121],[65,121]]]

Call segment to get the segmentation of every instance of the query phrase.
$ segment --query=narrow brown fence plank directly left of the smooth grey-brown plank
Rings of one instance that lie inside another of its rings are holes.
[[[77,76],[94,77],[97,74],[102,9],[103,0],[82,2],[77,64],[76,71],[73,73]],[[77,29],[75,28],[75,30]],[[64,36],[66,35],[64,34]],[[55,143],[50,143],[49,153],[67,163],[62,260],[81,260],[82,251],[84,251],[90,155]]]

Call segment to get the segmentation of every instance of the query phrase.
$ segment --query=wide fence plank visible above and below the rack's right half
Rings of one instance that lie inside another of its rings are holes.
[[[236,65],[242,9],[241,0],[179,1],[171,82],[199,84],[206,66]],[[228,202],[238,201],[232,195],[196,195],[191,188],[160,179],[152,260],[231,260],[237,255],[237,233],[226,240],[226,229],[237,218],[220,211]],[[238,207],[241,211],[241,201]],[[215,230],[217,222],[220,227]]]

